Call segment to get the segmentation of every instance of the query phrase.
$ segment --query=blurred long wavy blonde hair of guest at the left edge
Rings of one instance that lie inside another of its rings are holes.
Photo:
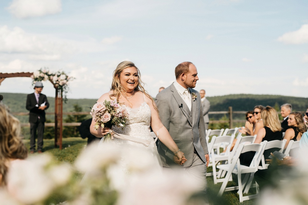
[[[13,160],[23,160],[27,155],[20,138],[19,120],[0,104],[0,186],[6,185],[6,174]]]

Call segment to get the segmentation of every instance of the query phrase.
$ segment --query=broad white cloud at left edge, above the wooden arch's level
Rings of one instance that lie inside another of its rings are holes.
[[[65,53],[76,51],[74,42],[47,35],[26,33],[19,27],[0,27],[0,52],[30,54],[32,60],[59,60]]]

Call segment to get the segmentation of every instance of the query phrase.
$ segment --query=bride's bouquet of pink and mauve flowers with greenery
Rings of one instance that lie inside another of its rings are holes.
[[[120,126],[123,128],[128,117],[128,112],[124,106],[121,106],[116,101],[107,100],[93,105],[90,114],[95,122],[95,130],[98,130],[99,126],[102,128],[111,128],[112,126]],[[113,139],[112,131],[106,134],[105,139],[107,141]]]

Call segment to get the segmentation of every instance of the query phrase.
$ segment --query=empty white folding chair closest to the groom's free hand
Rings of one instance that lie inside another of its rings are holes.
[[[224,179],[217,179],[216,164],[218,164],[221,161],[227,161],[228,163],[230,163],[229,155],[230,155],[230,147],[233,142],[233,139],[234,139],[234,136],[226,135],[226,136],[219,136],[219,137],[213,136],[211,140],[209,148],[211,150],[210,151],[210,161],[212,162],[212,167],[213,167],[214,184],[217,184],[217,182],[223,182],[224,180]],[[229,146],[227,146],[226,152],[216,154],[214,152],[214,146],[217,145],[217,147],[219,148],[220,147],[219,144],[222,144],[222,143],[229,144]]]

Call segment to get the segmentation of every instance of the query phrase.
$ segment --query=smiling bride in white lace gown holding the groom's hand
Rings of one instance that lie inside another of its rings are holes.
[[[149,144],[116,137],[111,141],[116,145],[124,144],[124,146],[141,148],[142,152],[150,153],[153,156],[153,161],[158,166],[161,166],[156,144],[150,133],[151,126],[160,142],[174,153],[173,161],[182,165],[186,161],[184,153],[180,151],[168,130],[161,123],[156,104],[153,98],[144,90],[143,84],[140,79],[139,69],[130,61],[121,62],[113,72],[111,90],[103,94],[97,102],[115,100],[126,107],[129,116],[125,127],[123,129],[121,127],[104,127],[103,129],[99,127],[98,130],[95,130],[95,122],[92,120],[90,131],[97,137],[104,137],[112,129],[116,133],[128,135],[134,139],[140,139],[140,141],[148,140]]]

